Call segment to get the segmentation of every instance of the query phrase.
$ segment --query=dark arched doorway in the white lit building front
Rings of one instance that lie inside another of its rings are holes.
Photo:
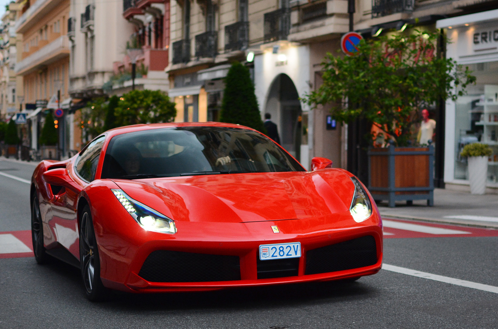
[[[296,86],[288,75],[281,73],[271,82],[264,110],[278,126],[280,145],[300,160],[302,109]]]

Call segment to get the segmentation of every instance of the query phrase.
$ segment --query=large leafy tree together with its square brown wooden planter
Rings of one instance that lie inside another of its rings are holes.
[[[328,106],[339,122],[366,120],[369,189],[376,200],[427,199],[433,203],[433,147],[413,147],[421,110],[465,93],[476,78],[468,68],[438,55],[439,32],[404,32],[361,40],[353,56],[325,57],[323,84],[305,96]],[[457,87],[455,87],[457,86]]]

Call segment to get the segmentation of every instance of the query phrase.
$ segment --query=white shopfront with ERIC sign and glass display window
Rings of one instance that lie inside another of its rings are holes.
[[[454,189],[469,189],[467,159],[463,147],[480,142],[489,145],[488,192],[498,193],[498,9],[446,18],[437,22],[452,43],[447,57],[469,67],[475,85],[456,102],[446,102],[445,182]]]

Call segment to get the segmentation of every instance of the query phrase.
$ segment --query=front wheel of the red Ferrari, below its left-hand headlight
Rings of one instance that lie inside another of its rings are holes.
[[[90,207],[86,205],[81,212],[80,223],[80,267],[86,297],[96,302],[102,300],[107,289],[100,278],[100,258]]]

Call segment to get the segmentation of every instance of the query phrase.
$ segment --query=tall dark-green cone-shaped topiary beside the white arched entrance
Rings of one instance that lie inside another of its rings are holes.
[[[220,121],[241,124],[265,133],[249,69],[239,62],[233,63],[225,85]]]

